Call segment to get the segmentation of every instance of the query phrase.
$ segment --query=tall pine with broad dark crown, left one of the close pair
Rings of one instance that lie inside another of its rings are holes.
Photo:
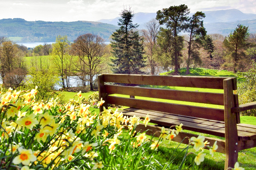
[[[169,8],[163,8],[163,10],[157,11],[156,19],[159,23],[165,24],[166,29],[161,29],[161,31],[167,30],[170,32],[170,37],[172,37],[171,44],[174,51],[174,73],[178,73],[179,63],[178,56],[180,54],[180,36],[178,35],[181,31],[186,29],[186,22],[188,21],[189,9],[187,5],[170,6]]]

